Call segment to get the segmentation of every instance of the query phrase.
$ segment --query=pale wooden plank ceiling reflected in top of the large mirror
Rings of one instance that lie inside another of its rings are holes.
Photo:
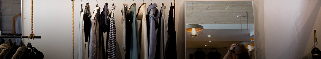
[[[238,15],[247,23],[246,11],[248,23],[253,24],[252,1],[186,1],[186,23],[193,23],[193,13],[198,24],[240,24]]]

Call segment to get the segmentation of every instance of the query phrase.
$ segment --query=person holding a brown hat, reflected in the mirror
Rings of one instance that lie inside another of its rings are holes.
[[[237,59],[251,59],[247,51],[248,49],[245,48],[244,44],[233,43],[223,59],[230,59],[231,53],[235,54]]]

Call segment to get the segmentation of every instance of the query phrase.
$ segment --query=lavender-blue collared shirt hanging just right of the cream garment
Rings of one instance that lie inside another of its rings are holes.
[[[153,3],[148,7],[148,12],[146,16],[147,20],[147,34],[149,39],[149,52],[148,59],[155,59],[156,52],[156,44],[157,44],[157,35],[156,29],[158,28],[158,18],[160,16],[160,12],[156,9],[157,4]]]

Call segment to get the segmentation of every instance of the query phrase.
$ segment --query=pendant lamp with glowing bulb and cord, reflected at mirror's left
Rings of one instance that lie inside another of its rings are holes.
[[[186,25],[186,34],[188,36],[198,36],[201,35],[203,33],[203,26],[199,25],[199,24],[194,24],[194,9],[193,9],[193,2],[192,2],[192,13],[193,13],[193,24],[188,24]]]

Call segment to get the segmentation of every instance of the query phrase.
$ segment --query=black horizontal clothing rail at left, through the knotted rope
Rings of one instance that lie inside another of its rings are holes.
[[[5,36],[4,36],[5,35]],[[10,34],[10,33],[1,33],[0,38],[32,38],[29,36],[21,36],[22,34]],[[35,36],[35,38],[41,38],[41,36]]]

